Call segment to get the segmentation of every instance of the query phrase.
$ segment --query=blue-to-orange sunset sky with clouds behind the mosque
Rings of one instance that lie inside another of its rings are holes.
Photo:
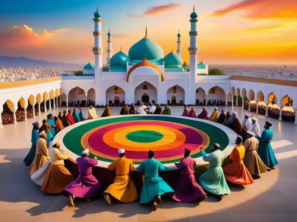
[[[94,62],[94,12],[102,17],[103,63],[107,33],[113,54],[145,36],[164,56],[176,52],[189,62],[190,14],[198,13],[198,62],[206,64],[296,64],[296,0],[1,0],[0,56],[24,56],[50,62]]]

